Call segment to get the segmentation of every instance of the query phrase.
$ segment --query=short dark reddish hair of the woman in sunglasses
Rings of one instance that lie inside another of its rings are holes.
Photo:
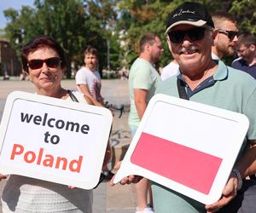
[[[28,72],[27,56],[37,49],[44,47],[54,49],[61,58],[61,68],[67,67],[66,55],[64,49],[61,48],[61,45],[57,43],[53,37],[38,36],[34,37],[29,43],[26,43],[21,49],[21,61],[24,71]]]

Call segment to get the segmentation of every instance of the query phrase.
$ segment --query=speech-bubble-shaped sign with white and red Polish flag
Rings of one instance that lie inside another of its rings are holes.
[[[222,194],[248,125],[237,112],[154,95],[114,182],[144,176],[212,204]]]

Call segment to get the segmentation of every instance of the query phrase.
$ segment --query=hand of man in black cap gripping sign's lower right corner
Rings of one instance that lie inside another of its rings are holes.
[[[224,190],[222,192],[222,197],[214,204],[207,204],[206,209],[207,213],[215,212],[224,205],[230,203],[231,199],[234,199],[236,197],[237,193],[237,186],[238,186],[238,179],[236,176],[234,176],[232,173],[230,175],[230,179],[227,182],[226,186],[224,187]]]

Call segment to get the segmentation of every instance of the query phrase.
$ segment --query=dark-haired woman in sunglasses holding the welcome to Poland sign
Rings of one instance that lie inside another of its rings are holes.
[[[34,38],[22,48],[22,66],[38,95],[67,101],[92,101],[79,92],[61,87],[67,60],[64,50],[51,37]],[[108,153],[109,154],[109,153]],[[105,161],[106,158],[105,158]],[[5,176],[0,176],[0,180]],[[9,176],[3,190],[3,212],[92,212],[92,190],[67,187],[26,176]]]

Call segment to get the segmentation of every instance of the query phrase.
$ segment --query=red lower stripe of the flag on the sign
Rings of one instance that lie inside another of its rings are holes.
[[[205,142],[205,141],[203,141]],[[222,158],[142,133],[131,163],[208,194]]]

